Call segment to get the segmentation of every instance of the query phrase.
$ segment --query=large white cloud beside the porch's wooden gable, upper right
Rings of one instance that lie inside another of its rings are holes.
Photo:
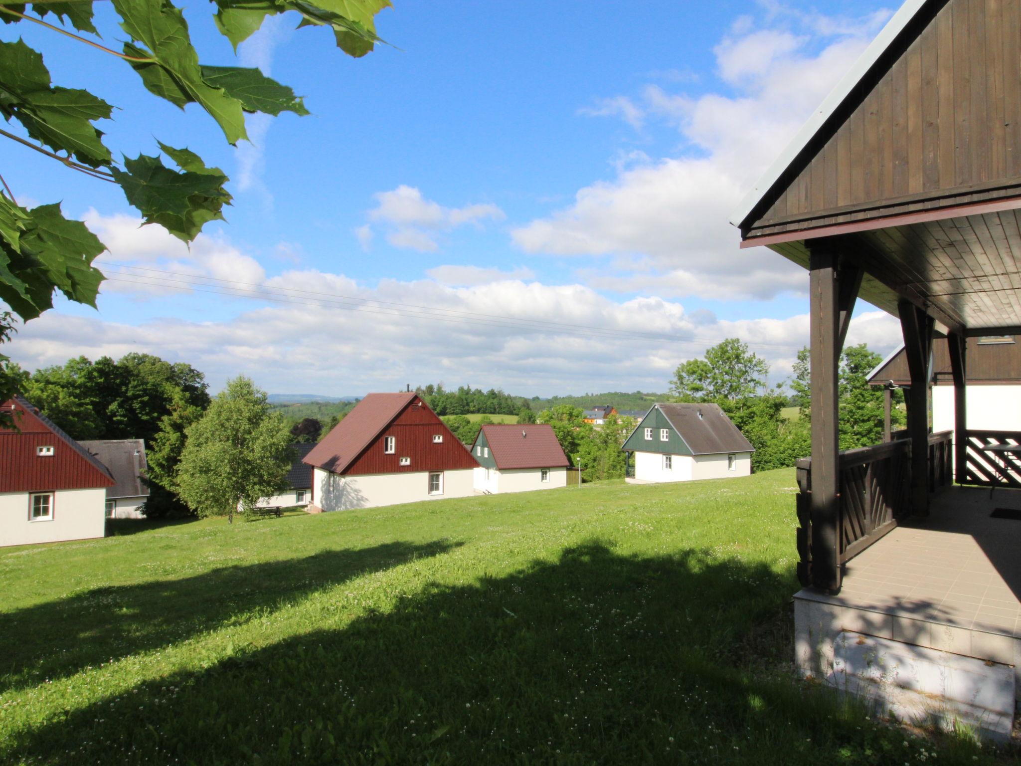
[[[775,27],[739,19],[717,46],[725,89],[698,96],[640,89],[635,108],[646,123],[677,127],[679,153],[618,164],[615,178],[580,189],[572,204],[514,229],[515,243],[529,253],[613,258],[618,273],[601,264],[582,272],[606,290],[731,299],[804,292],[804,272],[781,256],[740,250],[728,218],[862,52],[881,14],[837,33],[818,15],[767,11]]]

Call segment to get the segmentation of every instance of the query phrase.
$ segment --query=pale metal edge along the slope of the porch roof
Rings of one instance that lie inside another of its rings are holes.
[[[748,190],[741,199],[738,208],[731,214],[730,223],[740,228],[747,218],[755,210],[756,206],[762,202],[765,196],[780,180],[780,176],[790,164],[797,159],[798,155],[809,145],[813,137],[826,125],[840,105],[850,96],[855,88],[868,75],[869,70],[879,60],[879,57],[892,45],[897,36],[911,23],[912,19],[921,11],[930,0],[907,0],[904,5],[894,13],[886,26],[879,32],[875,39],[869,44],[858,60],[855,61],[847,74],[840,79],[829,95],[816,108],[808,118],[801,129],[794,135],[794,138],[787,144],[787,147],[773,161],[773,164],[760,177],[756,185]]]

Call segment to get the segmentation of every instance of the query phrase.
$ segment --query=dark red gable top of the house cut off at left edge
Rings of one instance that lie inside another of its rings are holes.
[[[14,411],[17,430],[0,428],[0,492],[109,487],[109,470],[64,433],[38,408],[15,396],[3,403]],[[40,457],[36,447],[51,446]]]

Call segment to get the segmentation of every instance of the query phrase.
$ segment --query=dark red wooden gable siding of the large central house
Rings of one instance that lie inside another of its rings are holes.
[[[443,436],[442,443],[433,442],[435,434]],[[396,440],[396,451],[393,454],[383,451],[383,440],[387,436],[393,436]],[[410,458],[411,465],[401,466],[401,458]],[[478,465],[443,421],[416,396],[343,473],[357,476],[456,471],[476,468]]]

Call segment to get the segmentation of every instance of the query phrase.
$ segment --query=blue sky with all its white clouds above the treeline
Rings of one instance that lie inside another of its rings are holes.
[[[121,39],[96,7],[105,41]],[[196,46],[231,63],[209,7],[186,6]],[[727,214],[891,10],[398,1],[377,19],[394,47],[361,59],[284,15],[240,58],[312,115],[255,117],[238,148],[116,58],[4,27],[44,52],[54,82],[124,107],[101,126],[114,150],[188,146],[235,195],[229,224],[189,250],[139,229],[117,187],[9,144],[18,201],[63,200],[109,246],[111,277],[98,312],[60,302],[11,356],[35,369],[144,350],[190,362],[214,389],[243,373],[271,392],[443,380],[546,395],[665,390],[680,361],[737,335],[780,380],[807,340],[807,277],[738,251]],[[885,352],[896,337],[859,309],[852,341]]]

